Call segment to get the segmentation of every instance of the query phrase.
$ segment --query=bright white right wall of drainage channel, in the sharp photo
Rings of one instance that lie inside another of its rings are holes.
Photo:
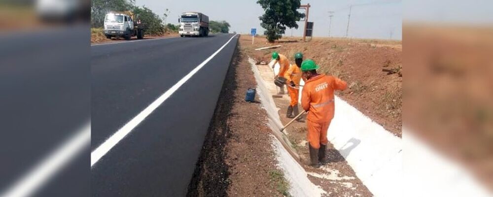
[[[402,140],[399,137],[336,96],[327,139],[374,196],[402,196]]]

